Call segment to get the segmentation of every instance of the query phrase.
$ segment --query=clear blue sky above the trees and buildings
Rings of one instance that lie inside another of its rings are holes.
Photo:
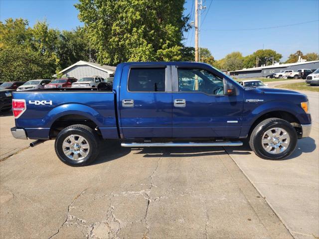
[[[46,19],[52,28],[71,30],[83,26],[77,2],[0,0],[0,20],[22,17],[32,26]],[[232,51],[246,56],[263,48],[281,53],[282,61],[297,50],[319,53],[319,0],[202,0],[202,5],[206,9],[201,10],[200,47],[217,60]],[[186,0],[184,7],[193,20],[194,0]],[[193,28],[184,37],[185,45],[194,46]]]

